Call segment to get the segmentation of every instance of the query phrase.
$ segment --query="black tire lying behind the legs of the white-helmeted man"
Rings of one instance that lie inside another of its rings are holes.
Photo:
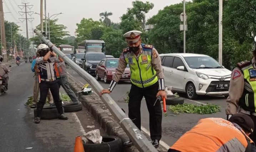
[[[34,116],[36,114],[36,109],[34,109]],[[41,113],[41,119],[50,120],[57,119],[59,117],[58,110],[55,106],[44,107]]]

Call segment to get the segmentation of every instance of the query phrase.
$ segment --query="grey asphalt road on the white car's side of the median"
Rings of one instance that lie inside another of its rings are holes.
[[[78,81],[85,84],[87,83],[83,78],[81,78],[74,70],[68,69],[68,72],[74,76]],[[98,81],[102,87],[108,88],[109,84],[105,84],[103,80]],[[125,103],[124,98],[127,97],[126,92],[130,91],[130,82],[119,82],[118,85],[114,88],[110,96],[117,102],[117,104],[125,110],[125,113],[128,115],[128,103]],[[160,144],[162,146],[168,148],[170,147],[179,137],[184,134],[186,131],[191,129],[198,120],[202,118],[208,117],[221,117],[225,118],[225,106],[226,106],[226,99],[224,97],[207,97],[202,96],[199,97],[197,100],[189,100],[186,99],[184,94],[179,94],[182,98],[185,98],[185,103],[191,104],[200,104],[200,103],[211,103],[221,106],[222,111],[215,114],[174,114],[167,110],[167,116],[163,115],[162,118],[162,141]],[[168,107],[167,107],[168,108]],[[141,105],[141,124],[142,124],[142,131],[149,134],[149,113],[146,107],[146,102],[142,102]]]

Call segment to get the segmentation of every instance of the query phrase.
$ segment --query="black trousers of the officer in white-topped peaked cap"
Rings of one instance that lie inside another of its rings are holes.
[[[154,106],[158,85],[158,82],[156,82],[152,86],[140,88],[132,84],[129,93],[128,115],[132,122],[141,130],[140,107],[144,96],[149,111],[150,138],[159,141],[162,137],[162,107],[160,101],[156,102]]]

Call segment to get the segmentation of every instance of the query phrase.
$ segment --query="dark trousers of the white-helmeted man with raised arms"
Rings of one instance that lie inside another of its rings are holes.
[[[36,104],[36,116],[37,117],[41,116],[41,112],[42,112],[42,109],[46,102],[46,98],[47,98],[49,89],[51,91],[52,98],[55,102],[58,113],[64,114],[64,111],[62,108],[62,101],[60,100],[59,85],[58,85],[57,81],[58,80],[51,81],[51,82],[41,81],[41,83],[39,83],[40,99],[39,99],[38,103]]]

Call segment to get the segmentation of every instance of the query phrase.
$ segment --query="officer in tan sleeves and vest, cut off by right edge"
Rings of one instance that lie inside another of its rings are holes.
[[[237,63],[231,73],[226,106],[227,120],[232,114],[240,112],[249,115],[256,124],[256,50],[252,51],[252,54],[252,61]],[[255,132],[250,137],[256,142]]]

